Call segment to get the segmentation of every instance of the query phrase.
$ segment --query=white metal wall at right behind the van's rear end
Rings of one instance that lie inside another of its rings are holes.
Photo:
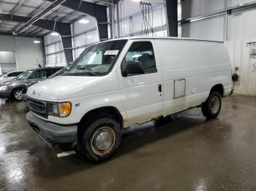
[[[255,0],[186,0],[181,1],[181,18],[186,19],[214,12],[219,9],[256,2]],[[235,93],[256,95],[255,58],[250,58],[252,46],[247,42],[256,41],[256,9],[247,9],[227,15],[197,20],[181,25],[181,36],[195,39],[225,41],[232,60],[233,69],[239,67],[241,79],[236,85]],[[227,23],[227,31],[226,31]]]

